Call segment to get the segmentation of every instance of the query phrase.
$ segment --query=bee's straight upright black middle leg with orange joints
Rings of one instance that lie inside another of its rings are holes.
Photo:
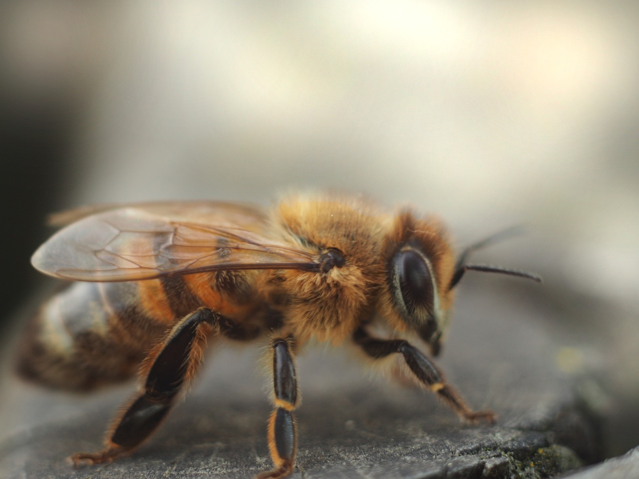
[[[295,465],[297,425],[293,410],[299,404],[291,339],[276,338],[273,352],[273,413],[268,418],[268,450],[275,468],[258,474],[259,479],[288,476]]]

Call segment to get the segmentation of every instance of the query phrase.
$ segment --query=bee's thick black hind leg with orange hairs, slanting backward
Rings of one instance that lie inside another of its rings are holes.
[[[144,388],[118,414],[107,432],[104,450],[77,453],[69,459],[78,464],[98,464],[127,455],[151,436],[176,402],[185,384],[197,374],[206,338],[219,333],[237,336],[242,326],[208,308],[199,308],[183,317],[151,349],[142,363]],[[256,331],[243,331],[245,337]]]

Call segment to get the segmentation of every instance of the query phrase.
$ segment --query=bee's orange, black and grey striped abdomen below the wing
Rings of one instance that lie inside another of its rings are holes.
[[[174,320],[196,308],[208,306],[242,319],[238,315],[245,314],[245,307],[229,301],[238,291],[224,292],[215,279],[204,274],[74,283],[44,303],[31,321],[19,371],[40,383],[72,390],[127,379]],[[236,281],[231,286],[236,290]]]

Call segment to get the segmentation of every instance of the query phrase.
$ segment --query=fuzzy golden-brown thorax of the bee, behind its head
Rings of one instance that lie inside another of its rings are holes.
[[[300,247],[318,257],[331,249],[343,255],[343,265],[321,273],[275,273],[286,295],[285,321],[296,340],[339,344],[373,312],[385,281],[381,258],[389,225],[368,203],[352,199],[292,199],[277,213]]]

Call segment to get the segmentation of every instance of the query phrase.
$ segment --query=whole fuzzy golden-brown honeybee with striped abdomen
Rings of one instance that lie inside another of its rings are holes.
[[[199,370],[207,340],[267,338],[273,412],[268,449],[281,478],[295,466],[299,404],[295,355],[312,338],[353,342],[373,360],[399,358],[408,374],[464,420],[473,411],[432,356],[449,325],[465,271],[532,273],[456,259],[438,220],[389,213],[360,197],[291,195],[271,210],[224,202],[157,202],[70,213],[70,224],[33,255],[35,268],[72,280],[30,323],[23,376],[90,390],[139,370],[141,384],[116,414],[104,448],[76,453],[98,464],[153,434]],[[380,327],[389,331],[375,335]]]

